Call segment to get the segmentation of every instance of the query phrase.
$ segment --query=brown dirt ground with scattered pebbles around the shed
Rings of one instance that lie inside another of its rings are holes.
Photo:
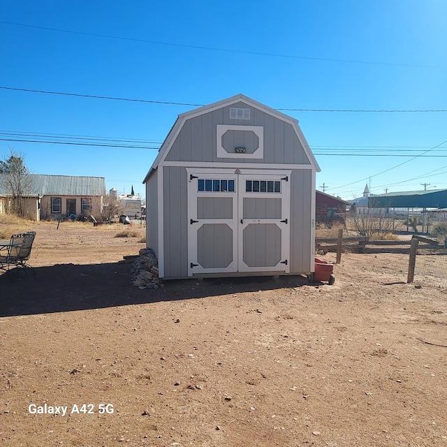
[[[1,446],[447,446],[447,296],[386,257],[140,290],[121,225],[34,228],[36,281],[0,275]]]

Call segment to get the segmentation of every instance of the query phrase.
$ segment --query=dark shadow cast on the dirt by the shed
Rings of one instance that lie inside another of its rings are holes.
[[[0,317],[69,312],[160,301],[189,300],[230,293],[275,290],[307,284],[300,276],[184,279],[159,289],[132,286],[130,263],[57,264],[31,274],[0,275]]]

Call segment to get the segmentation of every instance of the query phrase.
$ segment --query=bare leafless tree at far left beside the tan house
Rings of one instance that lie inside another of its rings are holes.
[[[24,156],[10,149],[10,156],[0,160],[0,186],[10,198],[9,211],[20,217],[27,214],[25,200],[33,191],[33,181]]]

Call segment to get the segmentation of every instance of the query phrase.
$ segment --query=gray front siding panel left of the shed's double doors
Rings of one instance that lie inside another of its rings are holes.
[[[163,167],[164,277],[188,276],[188,179],[186,169]]]

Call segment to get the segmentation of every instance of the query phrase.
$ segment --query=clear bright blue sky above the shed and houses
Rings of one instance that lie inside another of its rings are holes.
[[[3,0],[0,87],[188,104],[242,93],[302,109],[286,113],[326,193],[447,188],[447,112],[303,111],[447,110],[446,22],[444,0]],[[144,196],[157,148],[193,108],[0,88],[0,156]],[[143,148],[54,144],[81,137]]]

